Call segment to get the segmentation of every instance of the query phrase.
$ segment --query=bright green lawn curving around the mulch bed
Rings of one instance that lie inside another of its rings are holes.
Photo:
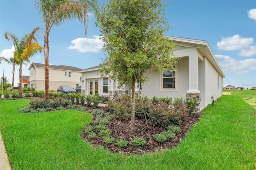
[[[0,101],[0,129],[18,170],[256,169],[256,109],[242,99],[250,94],[223,95],[202,111],[179,146],[142,156],[111,154],[82,140],[88,113],[17,113],[27,99]]]

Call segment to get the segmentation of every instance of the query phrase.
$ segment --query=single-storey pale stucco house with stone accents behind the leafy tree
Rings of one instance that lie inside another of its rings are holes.
[[[186,97],[198,98],[197,111],[206,107],[222,95],[222,79],[225,77],[207,41],[189,38],[171,37],[179,48],[174,54],[180,57],[175,65],[176,72],[166,71],[162,74],[145,73],[148,81],[142,85],[142,92],[148,98]],[[111,98],[114,95],[131,94],[131,85],[117,89],[118,82],[109,77],[100,77],[99,66],[82,71],[82,93],[99,93]],[[168,79],[166,79],[168,78]],[[137,89],[138,91],[139,89]]]

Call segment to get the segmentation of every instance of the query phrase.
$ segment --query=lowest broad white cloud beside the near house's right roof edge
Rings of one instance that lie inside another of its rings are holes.
[[[236,75],[256,70],[256,59],[236,60],[228,55],[215,55],[223,71],[234,72]]]

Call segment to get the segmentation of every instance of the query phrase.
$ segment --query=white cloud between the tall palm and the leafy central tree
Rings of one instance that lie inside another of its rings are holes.
[[[76,49],[80,53],[92,52],[98,53],[102,48],[103,42],[100,40],[99,36],[93,36],[94,38],[77,38],[72,40],[69,49]]]

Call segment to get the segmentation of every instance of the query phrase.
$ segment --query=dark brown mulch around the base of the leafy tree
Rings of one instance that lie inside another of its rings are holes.
[[[117,119],[112,119],[112,123],[110,125],[105,125],[108,129],[112,131],[111,136],[115,138],[115,140],[125,138],[127,141],[129,141],[127,147],[125,148],[119,148],[118,146],[112,144],[105,143],[102,139],[102,136],[98,136],[96,132],[96,138],[94,139],[88,139],[88,135],[84,132],[85,128],[82,130],[81,136],[86,141],[90,142],[92,146],[103,146],[104,148],[108,149],[112,153],[122,153],[126,156],[135,154],[140,155],[144,153],[152,153],[156,150],[164,150],[167,148],[173,148],[177,146],[181,140],[184,139],[187,132],[190,130],[192,125],[198,121],[200,117],[200,114],[194,114],[192,116],[187,115],[187,121],[183,121],[179,126],[181,128],[181,132],[178,134],[175,134],[175,138],[168,139],[164,143],[158,143],[155,139],[155,135],[162,133],[166,129],[163,127],[152,127],[146,125],[146,121],[143,119],[135,118],[135,129],[134,132],[131,132],[130,128],[130,120],[129,121],[120,121]],[[148,135],[148,131],[151,136],[152,144],[150,142],[150,138]],[[140,136],[144,137],[146,139],[146,144],[144,146],[132,146],[132,143],[130,140],[134,136]]]

